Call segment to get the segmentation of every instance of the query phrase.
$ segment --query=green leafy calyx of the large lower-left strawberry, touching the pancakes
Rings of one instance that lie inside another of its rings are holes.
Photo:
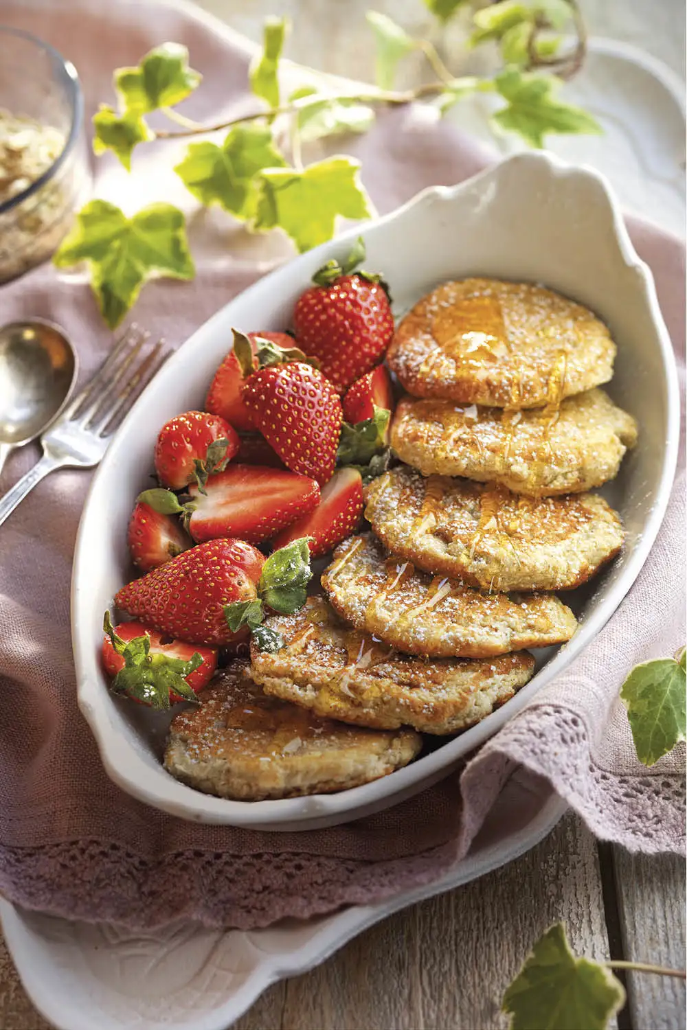
[[[305,605],[308,583],[312,578],[310,539],[302,537],[294,540],[270,555],[263,566],[254,599],[225,605],[225,619],[232,632],[248,626],[261,651],[274,652],[284,646],[281,633],[264,625],[265,609],[293,615]]]

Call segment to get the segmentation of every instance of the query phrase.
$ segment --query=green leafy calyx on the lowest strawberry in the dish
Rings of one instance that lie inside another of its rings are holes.
[[[114,631],[109,612],[105,612],[103,629],[116,653],[124,658],[124,668],[119,670],[110,685],[115,694],[126,694],[158,712],[171,708],[172,694],[194,705],[200,703],[186,681],[186,677],[203,664],[198,651],[188,661],[166,654],[151,654],[147,633],[130,641],[123,640]]]

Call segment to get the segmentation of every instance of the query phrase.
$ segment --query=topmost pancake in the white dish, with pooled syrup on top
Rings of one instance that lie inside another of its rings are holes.
[[[616,346],[591,311],[531,283],[446,282],[402,319],[387,353],[409,393],[538,408],[613,375]]]

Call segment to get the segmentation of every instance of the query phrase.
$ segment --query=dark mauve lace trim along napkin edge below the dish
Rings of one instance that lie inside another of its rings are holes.
[[[191,849],[147,861],[117,844],[71,840],[0,848],[0,893],[25,908],[133,930],[178,919],[250,930],[420,887],[455,857],[449,842],[388,862]]]

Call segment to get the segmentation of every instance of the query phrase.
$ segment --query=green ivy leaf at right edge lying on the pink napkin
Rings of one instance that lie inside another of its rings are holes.
[[[620,697],[627,709],[637,756],[653,765],[685,740],[685,651],[675,658],[658,658],[636,665]]]

